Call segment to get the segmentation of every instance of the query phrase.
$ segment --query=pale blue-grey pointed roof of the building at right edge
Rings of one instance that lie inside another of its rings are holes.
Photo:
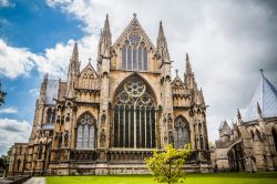
[[[244,122],[258,119],[257,104],[259,104],[263,117],[277,116],[277,90],[267,80],[261,71],[258,86],[253,95],[249,105],[246,109]]]

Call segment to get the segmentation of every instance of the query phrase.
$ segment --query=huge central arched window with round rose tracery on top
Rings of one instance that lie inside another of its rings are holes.
[[[155,105],[145,83],[127,80],[114,101],[114,147],[155,147]]]

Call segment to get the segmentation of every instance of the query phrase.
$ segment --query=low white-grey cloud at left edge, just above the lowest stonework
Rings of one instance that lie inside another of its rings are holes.
[[[16,142],[28,142],[31,125],[27,121],[0,119],[0,155]]]

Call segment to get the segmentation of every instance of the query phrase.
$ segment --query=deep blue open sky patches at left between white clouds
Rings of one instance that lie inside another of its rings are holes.
[[[0,39],[9,47],[25,48],[35,54],[43,54],[47,48],[52,48],[58,42],[66,43],[70,39],[82,38],[82,27],[81,20],[42,0],[12,0],[8,6],[0,7]],[[27,74],[12,79],[0,75],[2,89],[8,92],[6,103],[0,109],[0,119],[32,123],[43,74],[34,67]],[[27,141],[28,136],[22,141]],[[0,145],[0,154],[6,150]]]

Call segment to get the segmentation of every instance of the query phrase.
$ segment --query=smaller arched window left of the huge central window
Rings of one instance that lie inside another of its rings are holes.
[[[76,149],[95,149],[95,117],[84,113],[78,120]]]

